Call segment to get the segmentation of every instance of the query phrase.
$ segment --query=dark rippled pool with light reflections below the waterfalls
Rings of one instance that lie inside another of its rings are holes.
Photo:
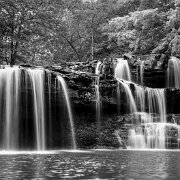
[[[173,151],[1,154],[0,162],[0,179],[180,179]]]

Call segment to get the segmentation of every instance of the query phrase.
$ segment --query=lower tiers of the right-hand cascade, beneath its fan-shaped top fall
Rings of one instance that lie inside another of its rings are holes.
[[[136,103],[141,110],[145,110],[147,104],[151,118],[141,120],[138,126],[129,130],[129,146],[136,149],[165,149],[166,104],[164,89],[146,88],[144,90],[135,85],[135,91]],[[157,115],[159,118],[154,120],[155,117],[153,118],[153,116]]]

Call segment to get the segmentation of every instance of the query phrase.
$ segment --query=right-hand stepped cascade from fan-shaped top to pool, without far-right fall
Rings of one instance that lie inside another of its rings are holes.
[[[141,84],[143,84],[144,63],[140,67]],[[129,129],[128,146],[135,149],[144,148],[165,148],[166,131],[166,102],[165,90],[144,88],[131,81],[130,68],[126,60],[118,59],[115,68],[115,78],[123,87],[126,95],[126,104],[130,113],[142,114],[148,111],[146,119],[137,120],[134,116],[134,127]],[[128,81],[125,81],[128,80]],[[133,86],[133,92],[130,88]],[[118,96],[122,89],[118,86]],[[119,99],[121,100],[121,98]],[[137,109],[140,111],[137,113]],[[155,116],[155,117],[154,117]],[[157,118],[157,116],[159,116]]]

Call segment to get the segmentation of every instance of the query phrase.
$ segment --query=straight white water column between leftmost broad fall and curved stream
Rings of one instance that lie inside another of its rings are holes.
[[[44,70],[29,69],[29,77],[33,89],[34,119],[36,124],[37,150],[45,150],[45,112],[44,112]]]

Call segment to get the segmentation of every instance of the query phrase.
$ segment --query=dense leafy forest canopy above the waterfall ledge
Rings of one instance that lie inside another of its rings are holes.
[[[180,57],[180,0],[0,0],[0,61]]]

